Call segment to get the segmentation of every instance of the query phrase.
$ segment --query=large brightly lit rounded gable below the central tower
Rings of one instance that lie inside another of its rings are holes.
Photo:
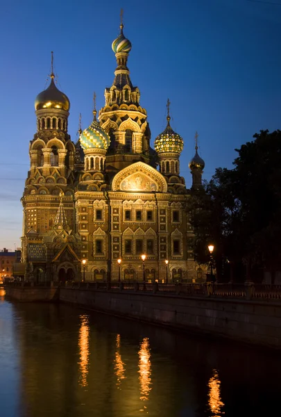
[[[167,193],[167,181],[159,171],[139,161],[115,175],[112,190]]]

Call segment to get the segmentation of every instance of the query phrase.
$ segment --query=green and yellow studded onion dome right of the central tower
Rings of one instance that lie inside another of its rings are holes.
[[[157,154],[162,154],[164,152],[176,152],[180,154],[180,152],[182,152],[183,140],[180,135],[171,128],[170,119],[171,117],[168,115],[166,129],[155,139],[154,147]]]

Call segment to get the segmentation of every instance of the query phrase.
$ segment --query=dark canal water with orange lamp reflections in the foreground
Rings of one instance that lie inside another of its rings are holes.
[[[278,352],[0,293],[2,417],[277,415],[280,370]]]

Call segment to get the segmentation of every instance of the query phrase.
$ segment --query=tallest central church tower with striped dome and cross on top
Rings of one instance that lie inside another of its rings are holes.
[[[146,110],[139,104],[139,89],[130,80],[127,60],[132,45],[123,29],[121,13],[120,33],[112,42],[117,68],[112,86],[105,88],[105,106],[99,111],[101,127],[110,136],[106,163],[112,173],[132,162],[149,163],[151,160]]]

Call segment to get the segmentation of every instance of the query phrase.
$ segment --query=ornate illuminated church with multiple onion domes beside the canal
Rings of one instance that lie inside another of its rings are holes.
[[[22,205],[22,263],[33,281],[202,281],[189,246],[187,205],[201,186],[204,161],[189,163],[193,185],[180,176],[184,142],[170,125],[154,140],[139,88],[127,67],[131,49],[120,34],[105,105],[76,143],[68,133],[70,102],[56,86],[35,99],[37,132]],[[84,262],[83,262],[84,261]]]

